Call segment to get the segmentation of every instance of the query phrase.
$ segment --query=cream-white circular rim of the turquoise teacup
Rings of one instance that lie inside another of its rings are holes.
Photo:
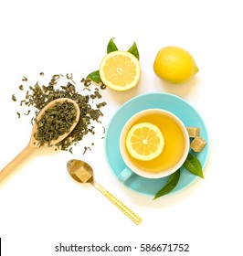
[[[125,148],[125,144],[124,144],[125,135],[128,132],[128,130],[130,129],[130,127],[132,125],[132,121],[133,120],[135,121],[141,115],[146,114],[146,112],[159,112],[159,113],[169,115],[170,117],[172,117],[174,119],[174,121],[176,123],[178,123],[178,125],[180,126],[180,129],[183,132],[184,137],[185,137],[185,150],[184,150],[184,153],[181,156],[180,160],[176,163],[176,165],[170,167],[167,170],[161,171],[161,172],[156,172],[156,173],[146,172],[145,170],[132,165],[131,162],[128,161],[127,154],[125,154],[125,152],[126,152],[126,148]],[[164,176],[170,176],[170,175],[174,174],[174,172],[176,172],[184,164],[185,159],[186,159],[186,157],[189,153],[189,149],[190,149],[190,139],[189,139],[189,135],[187,133],[185,124],[173,112],[168,112],[164,109],[159,109],[159,108],[151,108],[151,109],[146,109],[141,112],[135,113],[134,115],[132,115],[132,117],[130,119],[127,120],[126,123],[124,123],[124,125],[122,127],[122,132],[120,134],[119,147],[120,147],[120,153],[122,155],[122,159],[123,159],[125,165],[128,168],[130,168],[133,173],[135,173],[139,176],[146,177],[146,178],[161,178]]]

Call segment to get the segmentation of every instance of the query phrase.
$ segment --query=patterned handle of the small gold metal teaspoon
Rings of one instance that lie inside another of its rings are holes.
[[[107,197],[117,208],[120,208],[128,218],[132,219],[134,223],[138,225],[142,222],[142,218],[140,218],[132,211],[132,209],[128,208],[124,203],[122,203],[122,201],[114,197],[104,187],[100,186],[100,184],[98,184],[97,182],[93,182],[92,185],[96,187],[105,197]]]

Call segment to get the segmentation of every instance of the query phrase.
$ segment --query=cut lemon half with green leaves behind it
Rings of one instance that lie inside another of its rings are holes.
[[[132,89],[138,83],[140,73],[139,60],[127,51],[112,51],[100,63],[100,79],[115,91]]]

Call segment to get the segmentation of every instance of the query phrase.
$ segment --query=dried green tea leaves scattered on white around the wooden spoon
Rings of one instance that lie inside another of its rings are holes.
[[[40,75],[43,77],[44,73],[41,73]],[[103,115],[100,108],[105,106],[106,102],[100,102],[101,94],[99,89],[96,87],[94,90],[91,90],[89,88],[90,82],[88,80],[81,80],[81,85],[79,86],[79,90],[77,90],[78,86],[76,82],[74,82],[72,74],[67,74],[65,85],[60,85],[58,81],[63,77],[63,75],[53,75],[48,82],[48,85],[40,86],[39,82],[37,82],[34,86],[29,86],[26,91],[25,99],[20,101],[20,106],[26,105],[27,108],[34,107],[35,116],[32,117],[33,124],[38,112],[40,112],[48,102],[59,98],[69,98],[76,101],[79,104],[80,109],[79,123],[66,139],[56,144],[60,150],[71,151],[71,146],[73,144],[78,144],[86,134],[95,133],[95,127],[92,126],[91,123],[100,123],[100,116]],[[28,80],[24,77],[22,81],[26,83]],[[19,90],[24,91],[25,87],[26,85],[22,84],[19,87]],[[88,94],[85,94],[84,91],[88,91]],[[14,99],[17,101],[16,96]],[[99,102],[95,105],[95,101]],[[25,114],[29,114],[29,111]],[[19,112],[17,112],[17,115],[20,117]]]

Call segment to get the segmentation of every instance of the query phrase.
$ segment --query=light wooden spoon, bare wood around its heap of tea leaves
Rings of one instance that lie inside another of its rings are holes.
[[[71,133],[73,131],[73,129],[75,128],[75,126],[79,122],[79,116],[80,116],[79,104],[76,101],[73,101],[73,100],[71,100],[69,98],[59,98],[57,100],[50,101],[47,104],[47,106],[45,106],[38,113],[37,118],[36,118],[37,122],[40,120],[42,115],[48,109],[53,108],[58,102],[59,103],[63,103],[63,102],[71,102],[71,103],[73,103],[73,105],[74,105],[74,107],[76,109],[76,119],[75,119],[75,122],[69,128],[69,132],[60,135],[57,140],[51,141],[51,145],[58,144],[59,142],[64,140],[69,135],[69,133]],[[18,155],[16,155],[16,157],[8,165],[6,165],[4,169],[1,170],[1,172],[0,172],[0,181],[2,181],[5,178],[5,176],[7,176],[12,170],[14,170],[16,165],[19,165],[23,160],[26,159],[26,157],[28,155],[30,155],[32,152],[34,152],[35,149],[39,148],[38,142],[37,142],[37,140],[35,139],[35,136],[34,136],[34,134],[37,132],[37,122],[35,122],[34,125],[33,125],[32,133],[31,133],[31,136],[30,136],[30,140],[29,140],[29,143],[26,145],[26,148],[24,148],[24,150],[22,150]],[[48,146],[48,145],[45,144],[44,146]]]

